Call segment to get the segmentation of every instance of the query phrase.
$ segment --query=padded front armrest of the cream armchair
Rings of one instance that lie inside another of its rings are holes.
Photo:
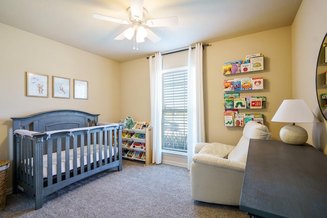
[[[217,157],[208,154],[195,154],[192,157],[193,162],[208,166],[230,169],[232,171],[245,171],[245,163],[229,160],[222,157]]]

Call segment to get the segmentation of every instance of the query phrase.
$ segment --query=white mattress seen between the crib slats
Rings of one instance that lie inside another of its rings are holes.
[[[84,165],[87,165],[87,146],[84,146]],[[109,157],[109,146],[107,147],[107,157]],[[104,159],[104,146],[101,146],[101,157]],[[116,153],[118,153],[118,149],[116,149]],[[97,144],[96,148],[96,160],[99,161],[100,158],[99,152],[99,144]],[[112,148],[111,154],[114,154],[114,148]],[[65,151],[61,152],[61,173],[66,172],[66,163],[65,163]],[[94,162],[94,148],[93,144],[90,145],[90,163]],[[29,163],[29,161],[28,161]],[[29,165],[29,164],[28,164]],[[77,148],[77,167],[81,166],[81,147]],[[52,154],[52,175],[57,175],[57,152]],[[74,168],[74,156],[73,149],[69,150],[69,171]],[[32,174],[33,174],[33,158],[32,158]],[[48,155],[43,155],[43,178],[48,178]]]

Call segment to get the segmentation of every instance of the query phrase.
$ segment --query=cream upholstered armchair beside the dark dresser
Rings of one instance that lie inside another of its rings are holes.
[[[237,146],[197,143],[190,169],[192,200],[239,205],[249,140],[270,136],[266,126],[250,121]]]

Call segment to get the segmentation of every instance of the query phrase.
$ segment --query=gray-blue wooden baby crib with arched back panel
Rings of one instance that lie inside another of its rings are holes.
[[[99,172],[122,171],[122,128],[99,114],[54,110],[12,117],[14,184],[35,199]]]

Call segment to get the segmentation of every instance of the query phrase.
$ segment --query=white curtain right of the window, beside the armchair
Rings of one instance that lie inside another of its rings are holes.
[[[202,43],[195,49],[189,47],[188,69],[188,168],[194,155],[194,144],[205,142],[204,109],[203,109],[203,67]]]

